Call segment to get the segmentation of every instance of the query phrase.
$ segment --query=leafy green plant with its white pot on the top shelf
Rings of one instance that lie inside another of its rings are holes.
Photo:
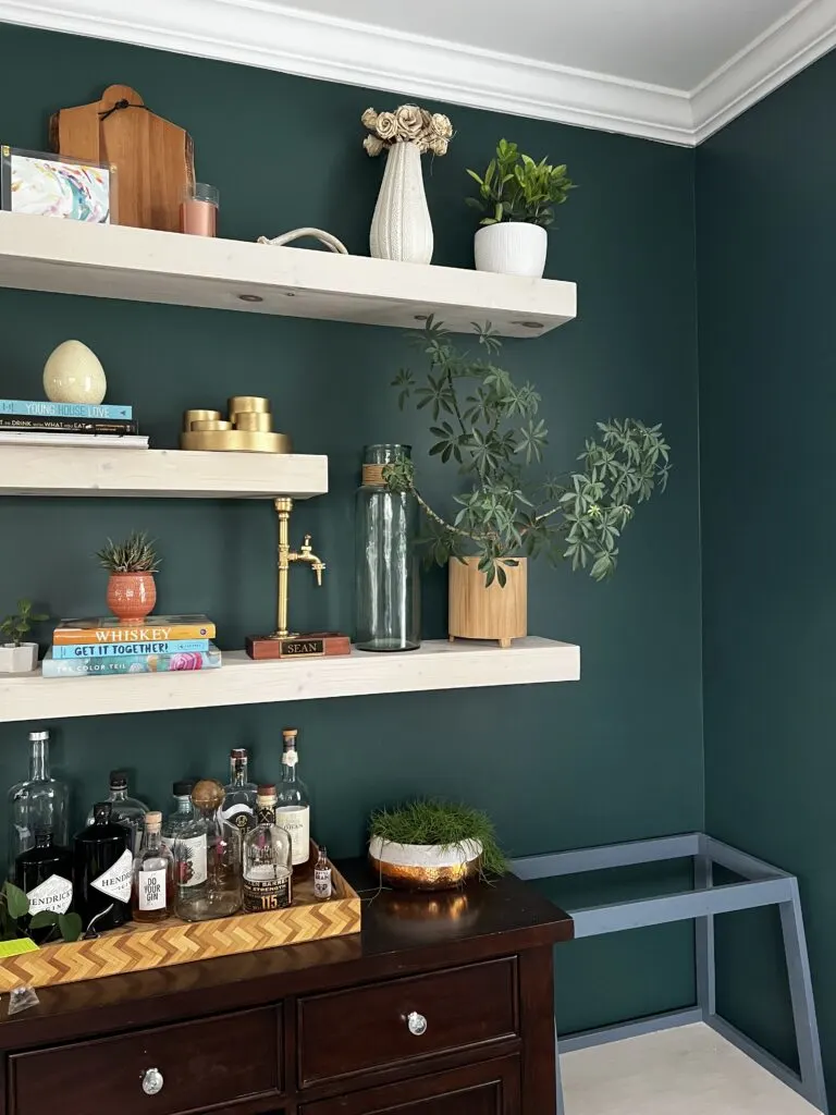
[[[465,201],[484,213],[474,241],[476,270],[542,279],[554,206],[575,188],[565,164],[535,163],[515,143],[500,139],[484,177],[467,173],[479,192]]]

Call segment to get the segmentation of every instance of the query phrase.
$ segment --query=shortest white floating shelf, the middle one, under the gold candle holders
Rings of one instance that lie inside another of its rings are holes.
[[[308,500],[325,492],[322,456],[0,445],[0,495]]]

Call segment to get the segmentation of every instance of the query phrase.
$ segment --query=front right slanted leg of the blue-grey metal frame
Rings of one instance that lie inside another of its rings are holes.
[[[801,1076],[801,1093],[815,1107],[827,1115],[827,1093],[822,1066],[822,1047],[818,1039],[816,1005],[813,999],[813,981],[807,954],[807,939],[804,932],[804,917],[798,894],[798,880],[791,880],[793,898],[779,904],[784,949],[787,957],[789,992],[793,1000],[793,1018],[798,1043],[798,1065]]]

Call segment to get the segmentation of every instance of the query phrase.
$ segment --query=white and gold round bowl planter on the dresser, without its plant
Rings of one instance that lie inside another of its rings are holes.
[[[448,891],[478,875],[482,844],[397,844],[372,836],[369,861],[387,886],[409,891]]]

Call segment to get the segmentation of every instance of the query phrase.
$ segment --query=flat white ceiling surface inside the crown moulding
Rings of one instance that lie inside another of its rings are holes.
[[[798,0],[299,0],[293,7],[690,91]]]

